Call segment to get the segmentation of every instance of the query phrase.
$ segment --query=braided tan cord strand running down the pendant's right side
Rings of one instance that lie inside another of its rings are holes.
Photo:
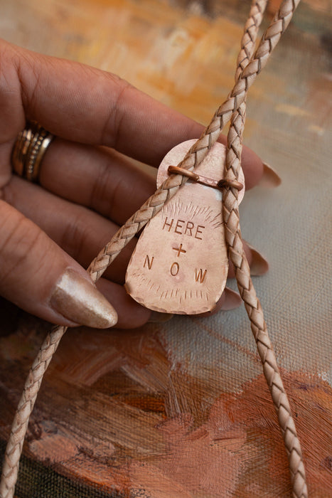
[[[245,25],[242,50],[237,58],[235,83],[241,78],[242,72],[245,71],[245,68],[250,63],[259,23],[262,21],[262,10],[265,9],[265,6],[266,2],[264,1],[254,1],[252,4],[250,11],[252,15],[249,16]],[[228,180],[237,179],[240,171],[245,112],[246,100],[243,100],[240,107],[232,114],[230,129],[227,134],[225,178]],[[267,334],[267,325],[264,321],[262,306],[257,299],[250,277],[250,267],[247,263],[242,244],[237,196],[237,189],[223,191],[223,220],[225,223],[227,250],[229,251],[230,260],[235,267],[237,287],[242,300],[245,302],[245,309],[250,318],[252,334],[255,337],[257,351],[262,361],[264,376],[269,386],[274,408],[277,411],[279,427],[282,430],[282,437],[289,459],[292,494],[294,498],[306,498],[308,490],[301,445],[296,434],[294,420],[291,416],[291,408],[277,366],[277,359]]]

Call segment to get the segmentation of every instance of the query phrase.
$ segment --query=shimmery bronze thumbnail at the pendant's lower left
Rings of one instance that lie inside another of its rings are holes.
[[[107,299],[74,270],[66,270],[55,285],[50,305],[71,322],[97,329],[117,323],[117,312]]]

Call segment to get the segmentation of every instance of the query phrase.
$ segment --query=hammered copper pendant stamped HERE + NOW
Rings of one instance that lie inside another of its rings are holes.
[[[159,187],[168,166],[178,164],[196,140],[177,145],[158,171]],[[223,178],[225,146],[216,143],[195,172]],[[240,171],[239,181],[244,185]],[[239,202],[244,190],[239,192]],[[228,270],[222,192],[190,179],[144,228],[132,254],[126,289],[149,309],[177,314],[211,311],[225,288]]]

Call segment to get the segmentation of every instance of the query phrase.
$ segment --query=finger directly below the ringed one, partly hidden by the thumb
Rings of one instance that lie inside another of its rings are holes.
[[[4,189],[4,198],[41,227],[83,267],[90,265],[119,229],[119,226],[99,214],[65,201],[17,176]],[[126,245],[114,263],[107,268],[105,277],[124,283],[124,275],[135,245],[135,240]]]

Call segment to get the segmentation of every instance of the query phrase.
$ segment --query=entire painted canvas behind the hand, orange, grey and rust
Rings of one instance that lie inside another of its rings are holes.
[[[277,2],[272,2],[270,11]],[[247,1],[1,0],[0,36],[117,73],[207,123],[232,88]],[[302,1],[250,90],[245,143],[282,186],[246,194],[244,237],[304,452],[332,489],[331,3]],[[235,283],[230,282],[230,286]],[[0,437],[47,325],[2,306]],[[244,308],[65,334],[33,412],[17,497],[287,497],[287,457]]]

